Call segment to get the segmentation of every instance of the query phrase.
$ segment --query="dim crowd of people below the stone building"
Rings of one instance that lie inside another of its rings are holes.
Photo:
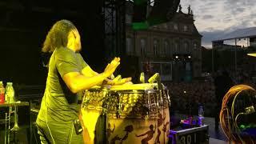
[[[204,106],[206,116],[214,116],[216,106],[214,80],[204,82],[165,83],[170,91],[171,111],[181,114],[198,114],[198,106]]]

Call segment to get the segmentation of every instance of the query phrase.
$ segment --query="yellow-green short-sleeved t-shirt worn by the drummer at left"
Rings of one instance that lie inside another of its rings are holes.
[[[78,118],[78,94],[73,94],[63,76],[70,72],[82,72],[88,66],[81,54],[66,47],[54,50],[50,57],[46,90],[42,98],[38,119],[46,122],[72,122]]]

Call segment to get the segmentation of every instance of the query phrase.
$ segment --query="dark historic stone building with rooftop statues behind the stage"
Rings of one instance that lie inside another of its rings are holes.
[[[126,54],[138,58],[140,71],[159,72],[162,81],[190,81],[200,77],[202,69],[201,38],[194,26],[193,12],[177,14],[170,22],[133,30],[132,3],[126,4]]]

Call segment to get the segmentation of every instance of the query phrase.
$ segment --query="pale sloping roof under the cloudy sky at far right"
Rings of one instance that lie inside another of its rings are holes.
[[[256,36],[256,27],[248,27],[245,29],[234,30],[228,34],[220,35],[212,42],[226,41],[235,38],[252,38]]]

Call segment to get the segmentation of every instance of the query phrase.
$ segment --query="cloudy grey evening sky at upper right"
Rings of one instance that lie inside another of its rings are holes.
[[[184,13],[191,6],[194,24],[203,35],[202,46],[206,48],[211,48],[211,41],[222,34],[256,26],[255,0],[181,0],[181,5]],[[241,41],[238,45],[244,43]]]

